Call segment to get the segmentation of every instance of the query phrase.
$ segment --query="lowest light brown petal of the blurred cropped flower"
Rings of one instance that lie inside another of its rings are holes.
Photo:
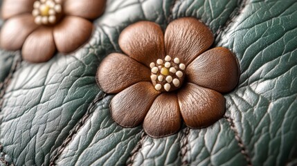
[[[45,26],[31,33],[21,50],[23,59],[33,63],[46,62],[53,57],[54,53],[53,28]]]

